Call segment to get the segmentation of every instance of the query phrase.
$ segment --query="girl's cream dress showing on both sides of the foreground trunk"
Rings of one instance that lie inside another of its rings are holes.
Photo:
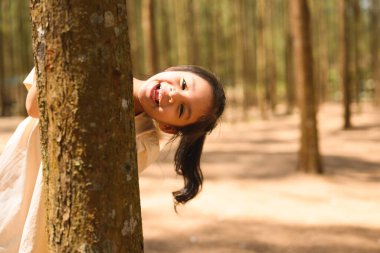
[[[25,79],[33,83],[34,70]],[[135,117],[139,172],[159,154],[159,139],[152,119]],[[0,253],[47,251],[45,206],[38,119],[20,123],[0,156]]]

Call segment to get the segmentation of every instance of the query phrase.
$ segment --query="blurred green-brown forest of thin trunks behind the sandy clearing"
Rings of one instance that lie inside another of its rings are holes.
[[[318,103],[379,103],[379,0],[308,1],[314,96]],[[211,69],[229,105],[263,118],[296,105],[291,15],[286,0],[130,0],[134,75],[177,64]],[[344,12],[344,15],[341,13]],[[0,3],[0,116],[25,115],[21,82],[33,66],[28,0]],[[341,57],[342,54],[347,54]],[[344,61],[344,62],[342,62]],[[346,70],[342,71],[341,66]],[[345,76],[342,76],[345,75]],[[345,83],[342,83],[344,81]],[[377,95],[376,95],[377,94]]]

